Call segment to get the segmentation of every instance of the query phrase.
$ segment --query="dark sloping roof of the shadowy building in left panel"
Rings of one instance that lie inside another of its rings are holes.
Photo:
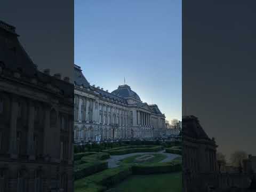
[[[74,85],[37,70],[36,65],[20,44],[18,37],[15,27],[0,20],[0,65],[4,65],[4,68],[11,71],[19,72],[22,77],[29,77],[21,78],[22,81],[28,81],[34,77],[39,82],[58,87],[64,95],[73,98]]]

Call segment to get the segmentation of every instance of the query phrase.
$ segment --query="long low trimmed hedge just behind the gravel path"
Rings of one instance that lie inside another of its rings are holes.
[[[104,150],[104,152],[110,155],[124,155],[130,153],[157,152],[159,150],[162,150],[162,146],[126,146]]]

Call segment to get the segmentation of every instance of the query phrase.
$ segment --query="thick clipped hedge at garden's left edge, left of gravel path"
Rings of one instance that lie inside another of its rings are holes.
[[[107,153],[83,153],[76,155],[76,158],[81,156],[82,158],[75,161],[75,179],[81,179],[88,175],[108,169],[108,162],[101,161],[110,157]]]

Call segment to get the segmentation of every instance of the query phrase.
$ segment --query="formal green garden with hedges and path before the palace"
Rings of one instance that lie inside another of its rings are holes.
[[[75,146],[76,192],[181,192],[180,141],[119,141]]]

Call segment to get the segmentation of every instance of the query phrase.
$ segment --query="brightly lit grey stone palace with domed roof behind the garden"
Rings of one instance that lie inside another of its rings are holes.
[[[142,102],[128,85],[108,92],[90,85],[79,66],[75,70],[76,143],[113,139],[153,138],[166,133],[165,116],[157,105]]]

